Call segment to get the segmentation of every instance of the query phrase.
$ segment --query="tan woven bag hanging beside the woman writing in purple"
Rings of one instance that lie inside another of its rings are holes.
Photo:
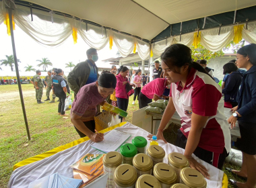
[[[97,113],[97,115],[94,116],[96,131],[101,131],[108,128],[108,123],[111,122],[111,120],[112,115],[109,111],[102,111]]]

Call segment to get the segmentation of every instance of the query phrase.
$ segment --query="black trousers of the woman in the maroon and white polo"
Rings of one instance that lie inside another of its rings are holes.
[[[175,146],[185,149],[186,144],[187,144],[186,136],[181,132],[181,130],[178,130]],[[220,170],[222,170],[224,160],[228,156],[228,153],[226,152],[225,148],[222,154],[217,154],[216,152],[210,152],[208,150],[204,150],[203,148],[197,147],[195,148],[195,151],[193,152],[193,154],[195,154],[195,156],[197,156],[201,160],[209,164],[212,164],[214,167]]]

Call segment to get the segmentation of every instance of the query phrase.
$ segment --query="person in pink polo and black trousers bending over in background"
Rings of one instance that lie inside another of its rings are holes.
[[[154,79],[154,81],[143,86],[141,93],[139,93],[139,109],[146,107],[148,103],[152,102],[152,99],[154,101],[160,99],[167,85],[168,81],[166,79]]]

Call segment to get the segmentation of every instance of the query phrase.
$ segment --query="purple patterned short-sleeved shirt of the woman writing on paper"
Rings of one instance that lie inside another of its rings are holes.
[[[100,93],[98,93],[96,82],[84,85],[75,96],[71,113],[82,116],[83,122],[94,120],[94,116],[97,113],[97,105],[102,103],[105,99],[106,98],[103,98]]]

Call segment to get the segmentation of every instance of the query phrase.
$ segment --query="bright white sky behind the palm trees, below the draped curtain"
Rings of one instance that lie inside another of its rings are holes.
[[[73,38],[70,36],[61,46],[56,48],[47,48],[38,44],[25,32],[23,32],[17,25],[14,30],[14,40],[17,58],[20,59],[19,70],[24,72],[24,66],[27,64],[34,66],[36,69],[42,70],[42,66],[38,67],[42,58],[49,58],[53,66],[48,66],[46,69],[61,68],[68,73],[70,68],[65,68],[65,63],[73,62],[77,64],[87,59],[86,50],[90,47],[77,35],[77,44],[73,44]],[[117,47],[114,45],[112,50],[107,44],[102,50],[98,50],[99,60],[96,62],[98,67],[110,67],[109,63],[102,62],[107,58],[117,57]],[[11,36],[7,35],[7,28],[4,23],[0,25],[0,60],[6,59],[5,55],[12,55],[13,50],[11,46]],[[10,66],[1,66],[3,71],[11,71]],[[1,70],[0,70],[1,71]]]

